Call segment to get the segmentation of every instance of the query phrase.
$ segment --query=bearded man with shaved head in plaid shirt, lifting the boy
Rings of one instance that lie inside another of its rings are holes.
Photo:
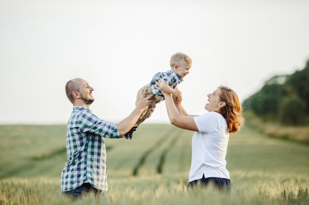
[[[132,113],[119,123],[102,120],[89,109],[94,89],[80,78],[68,81],[66,94],[73,104],[67,128],[68,161],[61,174],[61,191],[72,198],[94,192],[99,199],[107,191],[107,164],[104,137],[123,138],[139,116],[154,102],[153,95],[142,97]],[[143,96],[145,96],[144,90]]]

